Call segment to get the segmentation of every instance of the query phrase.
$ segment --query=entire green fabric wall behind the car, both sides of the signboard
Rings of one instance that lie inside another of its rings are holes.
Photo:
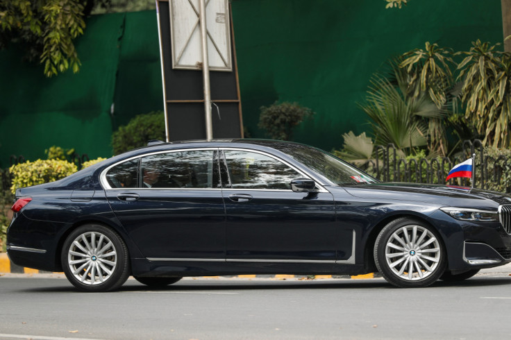
[[[401,10],[369,0],[233,0],[244,125],[259,108],[297,101],[317,112],[295,140],[330,150],[367,130],[356,106],[385,60],[424,42],[469,49],[502,40],[499,0],[411,0]],[[112,155],[110,136],[135,114],[162,110],[156,12],[93,16],[76,41],[79,74],[44,78],[15,49],[0,51],[0,167],[10,155],[44,158],[52,145]],[[114,114],[110,107],[114,103]]]

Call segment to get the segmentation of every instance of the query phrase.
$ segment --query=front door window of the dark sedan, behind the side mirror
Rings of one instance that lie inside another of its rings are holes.
[[[283,162],[250,151],[224,151],[233,189],[291,189],[291,181],[303,176]]]

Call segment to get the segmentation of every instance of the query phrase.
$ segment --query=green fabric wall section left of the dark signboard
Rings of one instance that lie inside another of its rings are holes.
[[[1,168],[10,155],[45,158],[53,145],[110,157],[119,124],[163,109],[155,11],[87,18],[76,40],[78,74],[45,78],[42,66],[22,62],[16,47],[0,52]]]

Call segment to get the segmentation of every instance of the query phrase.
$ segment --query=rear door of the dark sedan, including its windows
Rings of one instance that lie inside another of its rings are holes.
[[[106,171],[112,210],[149,260],[225,259],[216,149],[166,151]]]

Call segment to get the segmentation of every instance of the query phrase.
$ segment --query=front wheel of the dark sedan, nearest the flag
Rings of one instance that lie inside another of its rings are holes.
[[[445,271],[444,249],[433,227],[401,218],[381,230],[374,245],[374,260],[381,275],[394,286],[427,287]]]

